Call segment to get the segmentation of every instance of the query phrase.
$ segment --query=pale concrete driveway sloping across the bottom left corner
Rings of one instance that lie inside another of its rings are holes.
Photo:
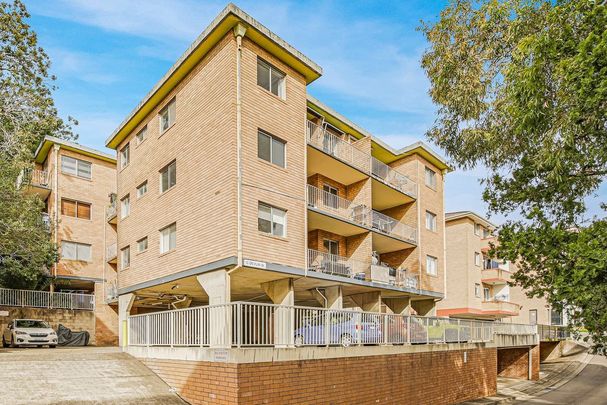
[[[0,349],[0,404],[186,404],[118,348]]]

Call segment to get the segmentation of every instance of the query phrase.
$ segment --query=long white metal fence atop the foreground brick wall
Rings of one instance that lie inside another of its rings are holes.
[[[493,340],[494,323],[233,302],[128,318],[133,346],[344,346]]]

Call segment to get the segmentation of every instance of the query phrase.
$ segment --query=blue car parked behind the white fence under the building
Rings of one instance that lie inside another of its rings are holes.
[[[295,345],[330,345],[348,347],[352,344],[382,342],[379,316],[352,312],[327,312],[313,318],[300,319],[302,327],[295,330]],[[328,330],[327,330],[328,328]]]

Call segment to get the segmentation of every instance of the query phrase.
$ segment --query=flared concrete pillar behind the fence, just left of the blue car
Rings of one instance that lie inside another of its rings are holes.
[[[274,311],[274,346],[293,347],[295,345],[295,291],[293,279],[283,278],[280,280],[262,283],[261,287],[272,302],[284,307],[276,308]]]

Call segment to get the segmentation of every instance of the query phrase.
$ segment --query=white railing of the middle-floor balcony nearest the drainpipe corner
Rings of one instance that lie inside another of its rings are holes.
[[[350,200],[331,194],[311,184],[308,184],[308,205],[326,211],[330,214],[355,222],[362,226],[369,226],[369,208],[362,204],[355,204]]]

